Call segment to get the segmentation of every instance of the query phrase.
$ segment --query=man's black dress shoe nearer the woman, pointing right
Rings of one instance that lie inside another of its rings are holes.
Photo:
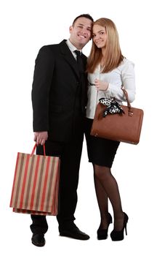
[[[78,227],[73,223],[73,225],[70,225],[66,228],[60,228],[60,236],[67,236],[69,238],[79,239],[79,240],[88,240],[90,237],[86,235],[86,233],[81,232]]]

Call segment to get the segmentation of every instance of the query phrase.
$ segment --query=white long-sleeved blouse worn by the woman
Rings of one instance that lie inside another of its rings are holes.
[[[99,79],[108,83],[106,91],[97,91],[94,80]],[[121,61],[121,64],[113,69],[111,72],[100,72],[100,64],[95,69],[94,73],[88,74],[88,102],[86,106],[86,117],[94,118],[95,109],[100,98],[115,98],[116,101],[122,105],[126,102],[124,92],[121,90],[124,86],[129,97],[129,102],[134,101],[135,96],[135,78],[134,78],[134,64],[128,59]]]

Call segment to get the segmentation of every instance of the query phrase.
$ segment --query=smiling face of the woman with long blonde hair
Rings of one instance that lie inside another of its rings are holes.
[[[106,30],[103,26],[94,25],[92,28],[92,39],[97,48],[103,48],[106,45],[108,35],[106,34]]]

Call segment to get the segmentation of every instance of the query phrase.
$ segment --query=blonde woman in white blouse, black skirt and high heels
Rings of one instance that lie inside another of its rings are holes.
[[[122,104],[126,101],[121,90],[123,85],[129,101],[134,100],[134,64],[122,53],[115,24],[108,18],[100,18],[93,23],[92,49],[87,61],[88,102],[86,108],[86,145],[89,162],[94,168],[94,185],[100,208],[98,239],[108,237],[108,226],[112,217],[108,213],[108,199],[113,207],[114,227],[110,233],[113,241],[124,239],[124,229],[129,217],[121,206],[118,184],[111,173],[113,159],[119,146],[118,141],[95,138],[90,135],[95,109],[100,98],[115,98]]]

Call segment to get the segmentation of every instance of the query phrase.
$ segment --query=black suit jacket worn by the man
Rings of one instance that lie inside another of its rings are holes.
[[[83,60],[85,71],[84,55]],[[80,83],[76,59],[65,40],[39,50],[32,88],[34,132],[48,131],[49,139],[63,142],[82,136],[86,106],[86,75],[82,75]]]

